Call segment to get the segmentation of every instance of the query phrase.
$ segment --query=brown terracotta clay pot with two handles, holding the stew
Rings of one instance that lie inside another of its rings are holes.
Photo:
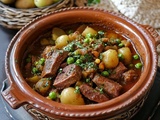
[[[21,73],[21,62],[28,46],[54,26],[80,23],[105,26],[132,40],[144,66],[138,82],[129,91],[107,102],[73,106],[48,100],[26,83]],[[66,8],[44,15],[26,25],[12,39],[5,58],[10,87],[2,92],[2,96],[12,108],[25,105],[30,114],[39,114],[42,119],[130,119],[142,107],[154,82],[159,38],[153,28],[137,24],[113,12],[93,8]]]

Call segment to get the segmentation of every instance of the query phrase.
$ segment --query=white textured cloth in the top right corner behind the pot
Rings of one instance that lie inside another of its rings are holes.
[[[141,24],[160,28],[160,0],[111,0],[117,9]]]

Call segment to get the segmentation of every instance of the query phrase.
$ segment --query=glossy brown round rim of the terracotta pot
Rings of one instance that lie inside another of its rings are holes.
[[[82,16],[80,16],[81,14]],[[87,19],[83,17],[85,15],[87,16]],[[26,46],[32,42],[31,40],[27,41],[27,39],[34,34],[35,37],[33,37],[33,39],[36,38],[37,30],[39,30],[39,34],[41,34],[44,32],[44,30],[51,29],[51,27],[54,25],[62,25],[64,23],[66,25],[69,24],[70,22],[68,19],[70,16],[73,17],[73,19],[77,18],[75,21],[73,21],[75,23],[90,22],[93,24],[103,24],[110,27],[116,26],[115,30],[118,32],[122,32],[126,36],[133,37],[131,40],[136,46],[136,49],[138,51],[143,51],[143,53],[140,53],[143,61],[143,71],[138,82],[130,90],[114,99],[103,103],[90,105],[66,105],[46,99],[37,92],[33,91],[32,88],[27,84],[23,78],[23,75],[21,74],[20,67],[20,56],[24,54],[25,49],[27,49]],[[93,18],[93,16],[96,17],[96,19],[88,19]],[[102,18],[100,16],[104,17]],[[62,19],[65,22],[61,22]],[[49,24],[51,24],[51,20],[54,21],[54,23],[52,25],[48,25],[47,27],[48,23],[45,21],[48,21],[50,22]],[[57,22],[56,24],[55,21]],[[123,28],[123,30],[121,28]],[[131,105],[131,103],[135,103],[137,100],[141,100],[144,95],[147,94],[148,88],[150,89],[154,82],[154,77],[157,70],[157,54],[155,49],[155,43],[157,41],[154,41],[154,37],[149,34],[150,32],[146,30],[145,26],[137,24],[132,20],[124,17],[123,15],[88,7],[65,8],[34,19],[25,27],[23,27],[12,39],[5,57],[5,70],[10,82],[10,88],[17,90],[16,92],[13,92],[13,94],[21,94],[21,97],[15,95],[18,102],[16,101],[12,107],[18,108],[25,103],[29,103],[35,108],[46,111],[48,113],[76,117],[93,115],[99,116],[107,113],[111,113],[110,115],[112,116],[112,112],[116,111],[118,114],[119,110],[122,108],[124,108],[123,111],[125,111],[127,107]],[[139,43],[133,41],[134,37],[139,39]],[[141,45],[138,46],[138,44]]]

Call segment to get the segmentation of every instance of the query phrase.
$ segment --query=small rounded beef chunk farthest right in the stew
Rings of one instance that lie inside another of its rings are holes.
[[[137,79],[138,74],[134,70],[128,70],[122,75],[124,82],[129,82]]]

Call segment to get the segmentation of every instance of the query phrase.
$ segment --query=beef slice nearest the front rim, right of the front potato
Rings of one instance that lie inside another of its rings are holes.
[[[107,96],[96,91],[94,88],[87,84],[82,84],[80,86],[80,91],[86,98],[94,102],[101,103],[109,100]]]

